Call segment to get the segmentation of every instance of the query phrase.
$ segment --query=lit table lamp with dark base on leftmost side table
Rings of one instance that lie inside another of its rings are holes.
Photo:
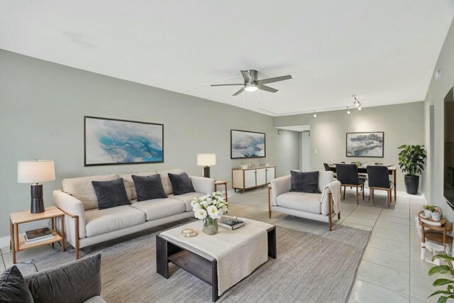
[[[44,212],[43,184],[55,180],[55,168],[52,160],[30,160],[17,162],[17,182],[31,184],[32,214]]]

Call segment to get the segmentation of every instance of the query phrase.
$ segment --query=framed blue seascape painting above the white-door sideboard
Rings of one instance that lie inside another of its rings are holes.
[[[265,133],[231,129],[230,139],[231,159],[265,158],[267,155]]]

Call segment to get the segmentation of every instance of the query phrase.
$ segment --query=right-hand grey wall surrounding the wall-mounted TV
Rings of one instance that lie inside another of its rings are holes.
[[[434,70],[441,69],[441,79],[432,77],[425,103],[426,144],[429,146],[428,162],[430,177],[426,182],[426,197],[429,204],[440,206],[449,221],[454,220],[453,209],[443,197],[443,149],[444,149],[444,104],[443,100],[454,86],[454,22],[451,23],[445,43]],[[433,111],[433,114],[431,113]],[[452,117],[451,117],[452,119]]]

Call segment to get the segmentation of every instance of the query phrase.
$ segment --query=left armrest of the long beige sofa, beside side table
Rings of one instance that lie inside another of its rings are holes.
[[[74,220],[76,220],[76,216],[79,225],[79,238],[85,238],[87,236],[87,232],[85,231],[87,221],[85,221],[84,204],[79,199],[61,190],[54,190],[52,197],[54,205],[65,212],[65,238],[75,247],[76,224]]]

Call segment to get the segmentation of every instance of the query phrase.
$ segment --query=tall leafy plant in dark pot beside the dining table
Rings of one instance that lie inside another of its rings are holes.
[[[404,172],[406,192],[417,194],[419,187],[419,175],[424,170],[426,150],[424,145],[401,145],[399,153],[399,167]]]

